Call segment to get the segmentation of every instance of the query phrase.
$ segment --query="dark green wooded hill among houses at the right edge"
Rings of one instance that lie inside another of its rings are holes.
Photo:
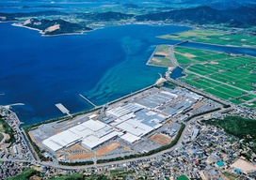
[[[256,143],[256,121],[239,116],[227,116],[222,119],[202,121],[217,128],[223,128],[227,133],[244,139],[244,143]],[[250,146],[251,150],[256,153],[256,147]]]

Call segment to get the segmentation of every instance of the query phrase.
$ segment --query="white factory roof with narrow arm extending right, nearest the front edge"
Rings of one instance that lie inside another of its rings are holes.
[[[90,149],[93,149],[94,147],[98,146],[99,144],[104,143],[104,142],[110,140],[111,138],[114,138],[115,136],[121,135],[121,134],[122,134],[121,132],[113,131],[113,132],[110,132],[109,134],[106,134],[105,136],[103,136],[101,138],[98,138],[97,136],[94,136],[94,135],[90,135],[82,141],[82,145],[84,145]]]

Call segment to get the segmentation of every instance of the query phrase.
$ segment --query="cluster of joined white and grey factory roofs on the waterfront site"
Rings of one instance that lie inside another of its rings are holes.
[[[89,115],[88,121],[53,135],[42,144],[56,152],[74,143],[92,150],[115,137],[135,143],[161,128],[169,117],[185,112],[202,98],[184,89],[152,88],[147,94],[132,103],[108,107],[101,119],[103,122],[94,120],[97,115]]]

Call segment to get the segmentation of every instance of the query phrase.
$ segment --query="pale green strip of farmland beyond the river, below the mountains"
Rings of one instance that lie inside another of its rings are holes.
[[[240,34],[231,34],[221,31],[193,29],[179,34],[161,36],[161,38],[191,40],[202,43],[218,44],[225,46],[239,46],[256,48],[256,37],[249,37]]]

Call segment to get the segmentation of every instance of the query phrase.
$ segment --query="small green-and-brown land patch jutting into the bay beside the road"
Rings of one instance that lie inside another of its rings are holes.
[[[172,67],[172,63],[169,55],[169,45],[160,45],[156,48],[152,54],[152,58],[148,62],[149,65],[160,67]]]

